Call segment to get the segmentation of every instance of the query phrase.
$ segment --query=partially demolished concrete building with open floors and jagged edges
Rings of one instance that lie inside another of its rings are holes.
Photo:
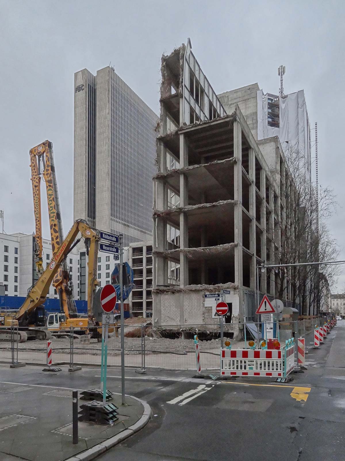
[[[279,139],[264,141],[264,156],[239,106],[225,112],[190,40],[162,56],[161,73],[154,323],[218,323],[205,299],[222,289],[233,322],[254,319],[256,266],[274,261],[286,206]],[[260,276],[262,291],[274,296],[274,272]]]

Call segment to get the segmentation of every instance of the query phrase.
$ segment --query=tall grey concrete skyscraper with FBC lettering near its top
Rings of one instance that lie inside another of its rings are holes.
[[[75,73],[74,219],[124,246],[152,239],[158,120],[112,67]]]

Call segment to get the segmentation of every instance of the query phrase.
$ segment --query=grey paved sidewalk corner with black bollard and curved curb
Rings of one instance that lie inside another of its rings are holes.
[[[79,406],[86,401],[79,400]],[[143,401],[114,394],[113,426],[79,422],[79,443],[72,439],[72,390],[53,386],[0,384],[0,460],[73,461],[92,459],[141,429],[150,419]],[[85,451],[88,450],[88,451]],[[17,456],[17,458],[13,458]]]

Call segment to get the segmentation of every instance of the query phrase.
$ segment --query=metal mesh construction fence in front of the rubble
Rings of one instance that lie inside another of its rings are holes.
[[[281,343],[291,337],[305,338],[306,347],[313,345],[314,327],[320,326],[322,319],[279,322]],[[263,323],[247,323],[248,327],[259,326],[259,337],[265,338]],[[3,328],[2,328],[3,329]],[[0,362],[46,365],[46,341],[27,340],[21,343],[22,329],[7,330],[6,340],[0,341]],[[25,330],[25,329],[23,329]],[[66,331],[61,336],[52,337],[52,363],[55,365],[100,366],[101,343],[80,336],[74,331]],[[220,366],[220,325],[137,325],[125,326],[125,366],[145,369],[196,370],[196,350],[194,336],[199,338],[201,370],[219,370]],[[224,340],[230,339],[232,347],[247,348],[251,336],[243,323],[224,325]],[[297,360],[297,359],[296,359]],[[121,366],[120,327],[109,335],[108,366]]]

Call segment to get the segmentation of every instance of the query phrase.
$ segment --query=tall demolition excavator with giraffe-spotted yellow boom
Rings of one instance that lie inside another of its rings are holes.
[[[48,202],[49,225],[52,241],[52,254],[55,255],[57,248],[63,241],[63,228],[59,195],[57,189],[57,179],[54,166],[54,155],[52,142],[45,141],[30,149],[30,167],[32,192],[34,197],[35,214],[35,264],[40,277],[43,273],[42,258],[42,219],[41,219],[41,196],[40,182],[43,177],[46,183],[46,195]],[[47,327],[50,331],[58,332],[75,328],[76,333],[87,332],[88,321],[86,318],[78,318],[75,306],[73,284],[69,275],[69,266],[66,259],[57,271],[53,280],[53,286],[57,290],[60,299],[60,313],[49,314],[47,317]]]

